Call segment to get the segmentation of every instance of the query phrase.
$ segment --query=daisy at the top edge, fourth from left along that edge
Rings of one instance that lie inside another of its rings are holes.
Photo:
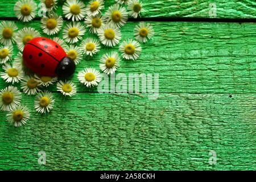
[[[103,0],[91,0],[86,6],[86,14],[88,16],[96,16],[101,14],[101,9],[104,8]]]

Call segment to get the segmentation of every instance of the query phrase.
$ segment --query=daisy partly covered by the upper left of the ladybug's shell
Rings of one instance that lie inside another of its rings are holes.
[[[20,51],[23,51],[24,46],[30,40],[39,37],[40,33],[35,28],[25,27],[19,30],[16,34],[15,41]]]

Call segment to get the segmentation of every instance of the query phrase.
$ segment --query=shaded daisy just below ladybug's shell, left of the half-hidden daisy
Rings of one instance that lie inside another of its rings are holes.
[[[31,76],[25,76],[21,81],[21,89],[28,95],[35,95],[41,90],[38,88],[38,82]]]

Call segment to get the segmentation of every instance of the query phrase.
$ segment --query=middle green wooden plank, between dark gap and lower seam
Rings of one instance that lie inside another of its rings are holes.
[[[151,23],[156,32],[154,40],[142,45],[142,56],[137,61],[122,60],[117,73],[159,73],[160,93],[255,93],[256,24]],[[123,39],[134,38],[136,24],[129,22],[122,28]],[[40,30],[40,23],[36,21],[17,25]],[[61,32],[57,36],[61,38]],[[84,39],[88,36],[91,35],[87,33]],[[102,47],[92,60],[81,61],[72,79],[79,92],[97,92],[97,89],[86,89],[80,84],[77,73],[86,67],[100,70],[100,57],[110,50],[118,51],[118,46]],[[15,47],[14,56],[16,52]],[[0,88],[5,86],[0,78]]]

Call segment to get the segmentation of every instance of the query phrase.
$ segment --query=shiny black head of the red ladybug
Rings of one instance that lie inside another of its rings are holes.
[[[68,57],[64,57],[63,60],[61,60],[60,63],[57,65],[55,73],[60,78],[67,78],[75,72],[75,69],[76,65],[74,61],[72,61]]]

